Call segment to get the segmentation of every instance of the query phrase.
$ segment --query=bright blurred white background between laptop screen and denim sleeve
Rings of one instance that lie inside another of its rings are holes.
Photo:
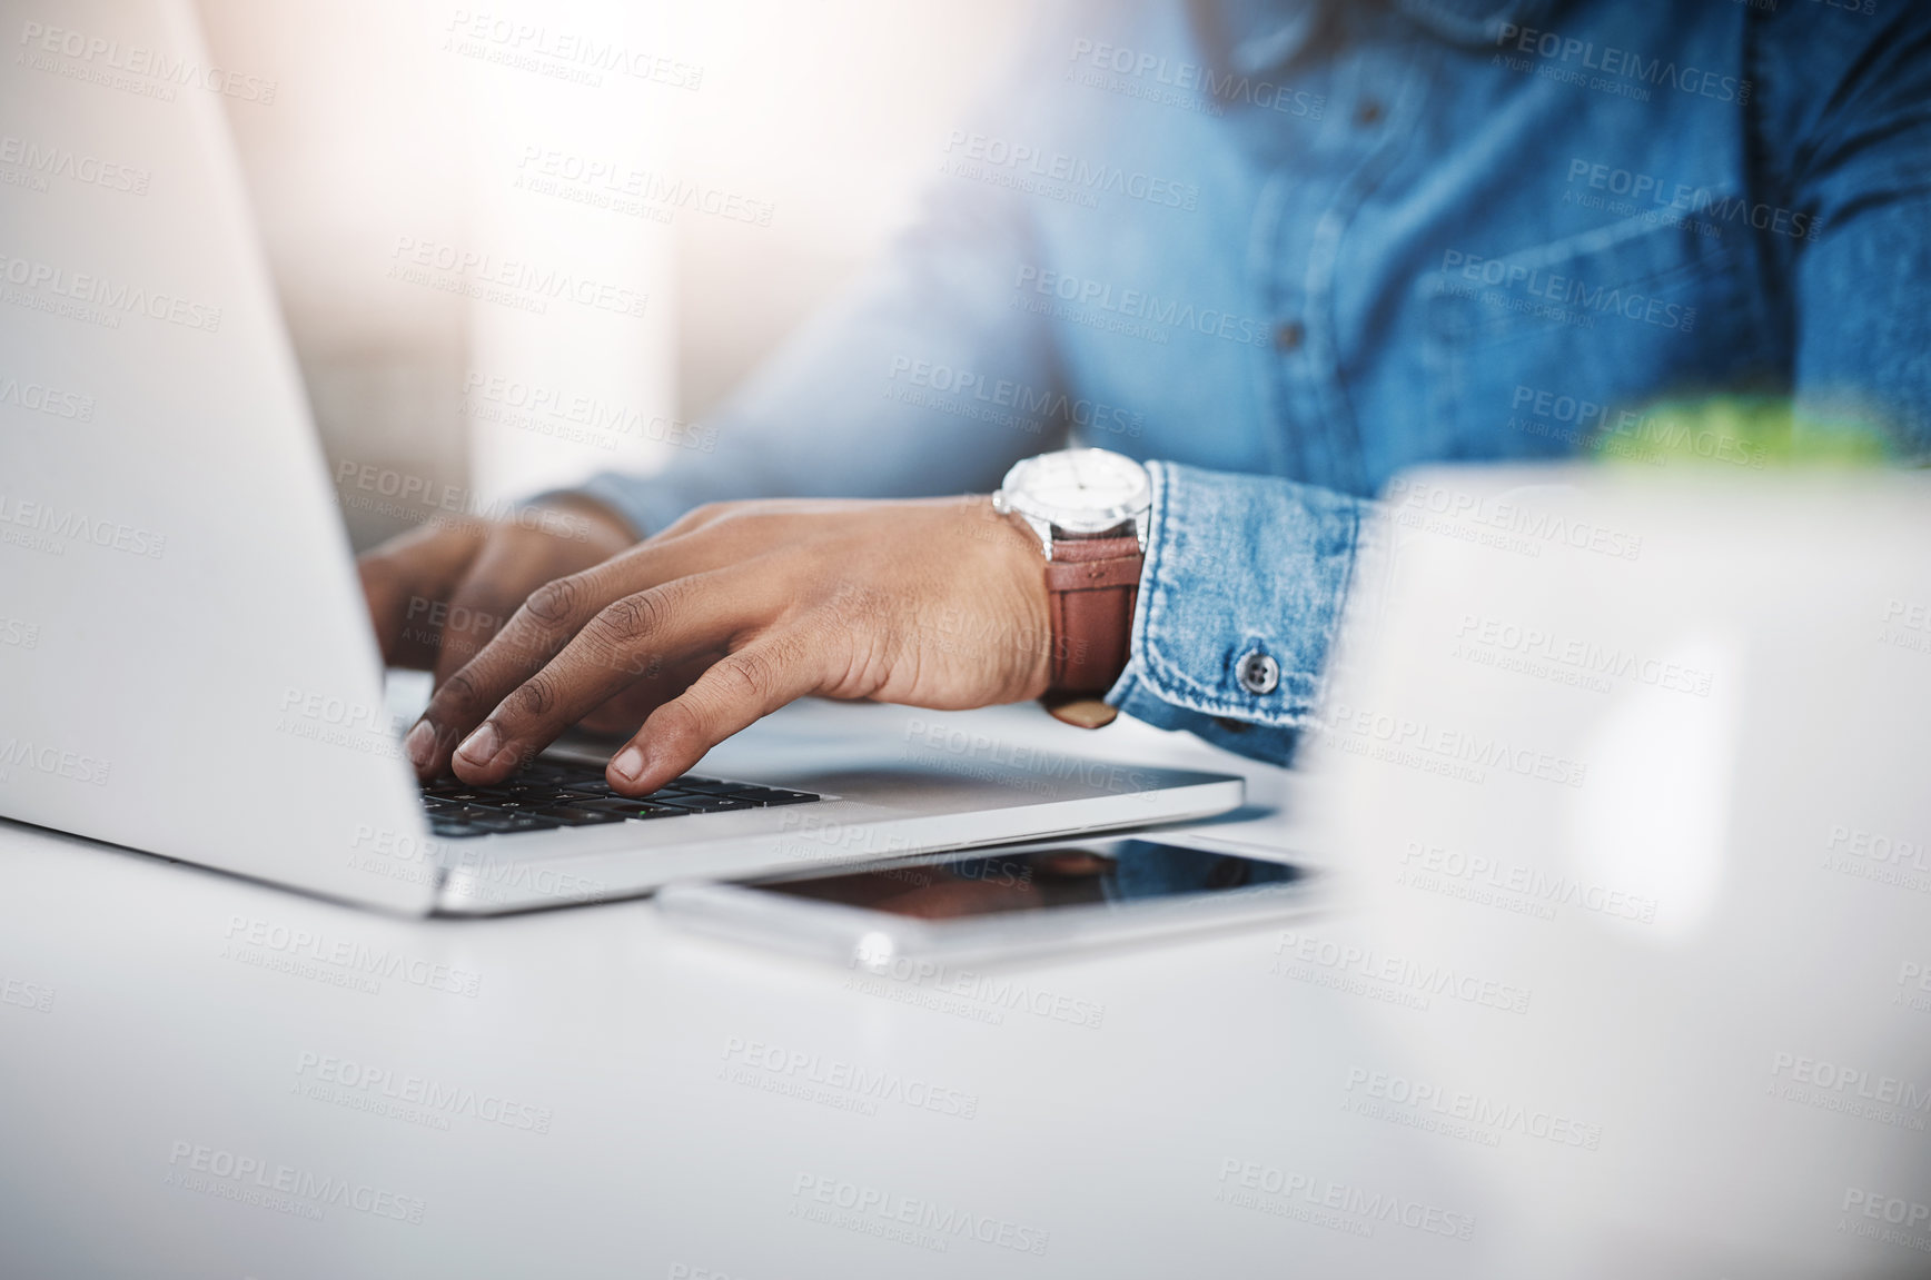
[[[701,446],[915,209],[1020,0],[199,0],[357,550]],[[431,500],[417,494],[429,492]]]

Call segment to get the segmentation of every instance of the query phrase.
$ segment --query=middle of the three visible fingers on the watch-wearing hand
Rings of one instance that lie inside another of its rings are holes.
[[[743,568],[680,577],[608,604],[462,741],[458,776],[496,782],[618,691],[655,682],[670,664],[728,653],[778,608],[782,579]]]

